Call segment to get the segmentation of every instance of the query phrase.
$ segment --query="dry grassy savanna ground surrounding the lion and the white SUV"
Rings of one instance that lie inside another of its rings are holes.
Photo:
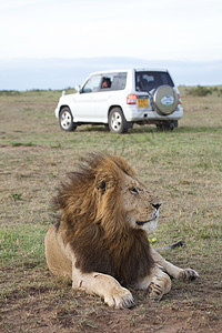
[[[193,97],[182,87],[184,117],[173,132],[150,125],[117,135],[101,125],[62,132],[53,114],[60,94],[0,92],[0,331],[120,332],[124,325],[125,332],[219,332],[222,98],[216,90]],[[118,312],[49,274],[43,239],[54,221],[51,198],[65,172],[91,151],[125,157],[158,194],[163,204],[153,246],[184,240],[185,248],[165,256],[193,266],[198,282],[173,281],[171,293],[155,304],[133,291],[138,306]]]

